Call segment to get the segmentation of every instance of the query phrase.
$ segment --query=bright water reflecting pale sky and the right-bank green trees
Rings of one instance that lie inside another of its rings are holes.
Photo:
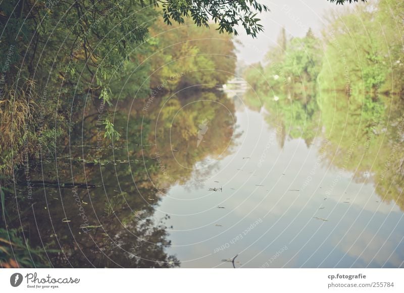
[[[194,190],[181,202],[190,195],[178,186],[157,212],[172,215],[169,251],[182,267],[232,267],[222,260],[235,255],[239,267],[402,267],[403,172],[387,159],[402,158],[393,148],[402,117],[392,113],[401,99],[250,93],[242,102],[237,150],[206,180],[223,193]]]

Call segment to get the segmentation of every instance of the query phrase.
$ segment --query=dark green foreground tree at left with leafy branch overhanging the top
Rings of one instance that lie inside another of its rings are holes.
[[[257,14],[268,10],[256,0],[153,0],[148,4],[143,0],[2,3],[0,171],[13,165],[12,161],[20,164],[24,160],[24,144],[32,156],[40,152],[42,143],[66,136],[68,130],[62,126],[73,121],[64,109],[85,104],[88,98],[110,104],[116,97],[110,83],[116,83],[123,70],[133,70],[127,63],[130,57],[135,63],[141,61],[138,47],[159,13],[167,24],[192,18],[198,26],[209,26],[213,20],[220,33],[237,34],[234,28],[241,24],[247,34],[256,36],[263,30]],[[195,51],[189,45],[184,49]],[[206,61],[200,56],[190,64],[209,64]],[[138,77],[144,77],[146,70],[137,72]],[[33,109],[41,98],[46,110],[39,114]],[[108,136],[117,138],[108,115],[104,119]],[[49,124],[55,127],[48,129]],[[42,134],[49,139],[42,139]]]

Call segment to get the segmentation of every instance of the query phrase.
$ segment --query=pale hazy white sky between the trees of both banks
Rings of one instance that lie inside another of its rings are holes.
[[[252,39],[242,28],[237,30],[239,36],[236,39],[241,42],[241,45],[237,45],[237,57],[246,64],[263,60],[268,48],[276,44],[282,27],[285,27],[289,36],[305,36],[309,28],[320,36],[321,29],[325,26],[326,14],[333,10],[339,14],[346,10],[346,6],[356,5],[335,5],[327,0],[261,0],[260,3],[271,10],[260,16],[265,31]]]

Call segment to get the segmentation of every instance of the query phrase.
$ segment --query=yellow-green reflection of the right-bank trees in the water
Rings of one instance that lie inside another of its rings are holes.
[[[324,165],[351,172],[357,183],[373,182],[383,201],[404,211],[404,100],[400,96],[277,95],[280,99],[274,101],[265,94],[247,93],[244,100],[252,110],[263,104],[268,124],[281,129],[276,131],[280,147],[287,139],[302,138],[307,146],[321,139]]]

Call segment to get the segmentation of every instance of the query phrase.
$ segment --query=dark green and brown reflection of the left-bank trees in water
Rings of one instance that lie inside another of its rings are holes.
[[[221,92],[192,90],[155,98],[147,109],[146,102],[116,105],[114,124],[122,139],[111,145],[98,123],[103,105],[98,112],[86,109],[83,125],[71,132],[68,146],[56,146],[57,158],[30,167],[29,197],[24,170],[17,175],[21,200],[18,206],[9,201],[8,211],[20,211],[24,236],[32,247],[47,251],[48,265],[180,265],[166,252],[170,216],[155,216],[156,206],[171,186],[184,185],[191,174],[201,182],[215,168],[209,160],[231,152],[234,105]],[[202,134],[200,125],[209,131]],[[14,214],[9,228],[19,222]]]

